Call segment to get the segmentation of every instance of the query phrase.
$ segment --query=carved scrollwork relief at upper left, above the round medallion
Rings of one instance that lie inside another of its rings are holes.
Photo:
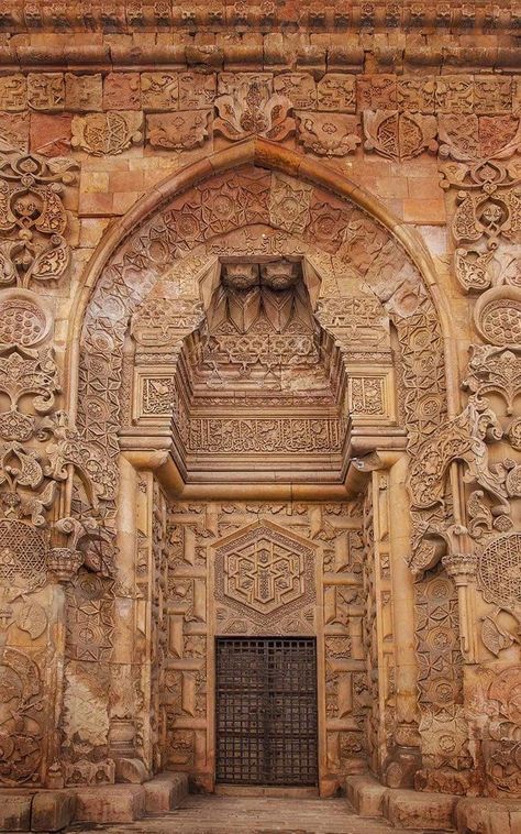
[[[56,281],[66,271],[63,195],[77,167],[73,160],[0,155],[0,286]]]

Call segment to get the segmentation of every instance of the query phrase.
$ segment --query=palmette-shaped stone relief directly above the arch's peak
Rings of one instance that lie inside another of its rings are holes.
[[[270,94],[266,81],[243,80],[232,94],[215,99],[213,130],[232,141],[252,135],[281,141],[295,131],[291,107],[286,96]]]

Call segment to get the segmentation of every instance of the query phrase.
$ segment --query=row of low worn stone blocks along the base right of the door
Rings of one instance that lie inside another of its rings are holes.
[[[521,834],[521,799],[455,797],[386,788],[372,776],[348,776],[347,799],[362,817],[392,827],[458,834]]]

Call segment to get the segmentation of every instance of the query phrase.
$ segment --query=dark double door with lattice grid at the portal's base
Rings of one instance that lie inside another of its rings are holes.
[[[317,784],[314,639],[217,640],[217,780]]]

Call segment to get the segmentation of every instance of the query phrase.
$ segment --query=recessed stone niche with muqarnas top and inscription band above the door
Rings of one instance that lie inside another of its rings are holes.
[[[287,256],[221,257],[190,300],[156,285],[128,339],[129,434],[169,425],[187,482],[263,481],[274,470],[286,480],[341,481],[350,397],[368,407],[366,419],[381,420],[375,404],[392,400],[392,382],[389,369],[378,378],[350,374],[317,315],[319,290],[306,260]]]

